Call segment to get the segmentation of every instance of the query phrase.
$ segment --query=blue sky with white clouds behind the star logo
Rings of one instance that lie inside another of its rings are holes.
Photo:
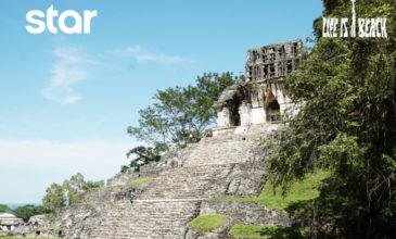
[[[27,33],[26,13],[52,4],[98,10],[91,34]],[[248,48],[304,40],[321,11],[320,0],[1,1],[0,203],[39,202],[77,172],[111,177],[156,89],[243,72]]]

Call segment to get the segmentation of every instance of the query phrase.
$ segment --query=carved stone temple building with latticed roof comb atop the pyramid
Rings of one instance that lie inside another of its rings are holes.
[[[292,40],[250,49],[246,80],[228,87],[215,103],[217,128],[277,122],[288,109],[296,113],[282,85],[301,62],[302,47]]]

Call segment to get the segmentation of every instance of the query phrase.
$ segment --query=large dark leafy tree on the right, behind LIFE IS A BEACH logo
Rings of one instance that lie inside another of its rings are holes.
[[[359,17],[396,21],[394,0],[358,1]],[[324,0],[324,16],[350,14],[349,0]],[[286,192],[290,181],[325,168],[322,196],[343,234],[389,237],[396,231],[396,25],[388,38],[322,38],[285,84],[302,110],[273,136],[268,162],[272,183]]]

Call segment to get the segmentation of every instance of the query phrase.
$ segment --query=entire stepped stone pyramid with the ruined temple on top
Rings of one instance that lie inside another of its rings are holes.
[[[228,87],[216,102],[218,125],[213,137],[188,143],[140,172],[119,173],[106,187],[81,194],[53,222],[18,227],[17,236],[66,239],[206,239],[238,238],[238,224],[307,228],[303,218],[251,201],[215,200],[259,197],[266,184],[260,139],[282,127],[279,116],[294,104],[282,91],[302,60],[301,40],[247,51],[246,80]],[[243,136],[241,134],[244,134]],[[182,167],[178,159],[182,159]],[[148,180],[141,180],[148,179]],[[137,183],[141,181],[141,183]],[[133,192],[133,203],[129,193]],[[200,216],[223,215],[218,228],[197,230]],[[308,228],[309,229],[309,228]]]

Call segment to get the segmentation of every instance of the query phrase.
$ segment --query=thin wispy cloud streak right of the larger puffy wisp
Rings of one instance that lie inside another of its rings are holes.
[[[191,59],[181,56],[173,56],[165,53],[152,53],[146,51],[141,46],[127,47],[123,50],[115,50],[111,52],[117,56],[131,58],[139,62],[158,62],[158,63],[194,63]]]

